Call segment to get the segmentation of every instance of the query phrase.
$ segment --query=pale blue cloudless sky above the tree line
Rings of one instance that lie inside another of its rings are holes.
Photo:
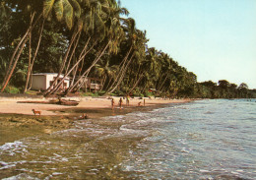
[[[167,53],[198,82],[226,80],[256,89],[256,0],[121,0]]]

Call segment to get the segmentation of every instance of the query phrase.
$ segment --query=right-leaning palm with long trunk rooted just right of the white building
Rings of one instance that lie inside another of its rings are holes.
[[[101,41],[103,42],[103,44],[105,43],[105,45],[103,45],[101,49],[99,48],[100,50],[98,51],[93,63],[90,65],[89,68],[86,69],[82,76],[80,76],[80,79],[78,79],[78,81],[66,91],[66,93],[74,90],[80,84],[82,79],[86,80],[85,77],[89,75],[90,71],[100,60],[107,48],[108,53],[117,53],[117,47],[120,39],[122,39],[124,36],[123,30],[120,28],[121,26],[118,18],[120,11],[117,11],[119,7],[116,2],[112,1],[111,3],[108,2],[108,4],[104,0],[101,0],[100,2],[102,3],[102,7],[100,9],[102,9],[104,12],[98,11],[98,15],[91,16],[95,18],[93,20],[89,19],[89,17],[86,17],[87,21],[85,22],[85,24],[87,24],[87,27],[89,27],[88,29],[86,29],[86,32],[90,33],[92,37],[97,39],[97,41]],[[93,11],[91,14],[95,13],[95,9],[96,8],[92,9]],[[101,36],[103,37],[102,40]]]

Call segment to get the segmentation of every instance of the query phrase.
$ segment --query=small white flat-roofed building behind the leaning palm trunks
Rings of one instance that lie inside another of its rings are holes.
[[[32,90],[47,90],[54,82],[56,77],[58,76],[57,73],[38,73],[32,74]],[[63,79],[63,75],[60,76],[58,82]],[[55,85],[57,85],[57,83]],[[61,90],[66,90],[69,88],[70,78],[65,78],[64,82],[61,85]]]

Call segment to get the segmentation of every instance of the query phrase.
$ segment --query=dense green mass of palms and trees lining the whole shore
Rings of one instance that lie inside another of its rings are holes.
[[[58,73],[101,79],[101,93],[255,97],[246,84],[197,83],[194,73],[148,47],[146,31],[136,29],[128,14],[116,0],[2,0],[1,91],[27,92],[32,73]],[[65,93],[81,91],[79,85],[74,79]],[[52,88],[43,94],[59,86]]]

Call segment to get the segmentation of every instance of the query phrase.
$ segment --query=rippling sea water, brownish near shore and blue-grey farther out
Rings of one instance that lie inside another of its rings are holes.
[[[256,179],[255,99],[168,104],[0,146],[0,179]]]

